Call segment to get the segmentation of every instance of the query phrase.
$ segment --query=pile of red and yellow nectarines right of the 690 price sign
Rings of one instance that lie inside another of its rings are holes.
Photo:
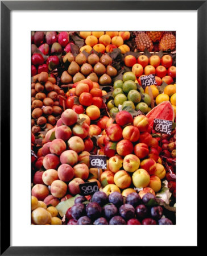
[[[101,174],[103,191],[127,195],[138,189],[150,188],[154,193],[161,189],[165,168],[159,156],[162,148],[153,138],[148,118],[138,115],[134,119],[122,110],[115,119],[110,118],[98,139],[99,154],[106,155],[107,170]],[[121,189],[121,190],[120,190]]]

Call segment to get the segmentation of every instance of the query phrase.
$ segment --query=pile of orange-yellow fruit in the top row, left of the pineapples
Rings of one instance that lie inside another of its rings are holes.
[[[80,52],[90,53],[92,49],[96,52],[112,52],[114,48],[121,49],[122,53],[130,51],[125,41],[130,39],[129,31],[80,31],[80,37],[85,39],[85,46],[80,48]]]

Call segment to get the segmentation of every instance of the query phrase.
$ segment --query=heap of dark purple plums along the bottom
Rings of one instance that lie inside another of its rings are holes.
[[[98,191],[90,202],[84,201],[85,197],[77,197],[67,210],[68,225],[173,225],[151,193],[142,199],[138,193],[130,193],[124,200],[119,192],[107,196]]]

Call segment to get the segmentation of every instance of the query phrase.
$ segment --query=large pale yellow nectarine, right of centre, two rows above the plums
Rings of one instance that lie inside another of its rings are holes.
[[[150,183],[150,175],[141,168],[133,173],[132,180],[136,188],[144,188]]]

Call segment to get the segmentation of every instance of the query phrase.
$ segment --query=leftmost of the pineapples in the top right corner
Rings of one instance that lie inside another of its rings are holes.
[[[145,32],[138,32],[135,38],[136,48],[138,51],[143,52],[145,48],[148,49],[149,52],[153,49],[152,40]]]

